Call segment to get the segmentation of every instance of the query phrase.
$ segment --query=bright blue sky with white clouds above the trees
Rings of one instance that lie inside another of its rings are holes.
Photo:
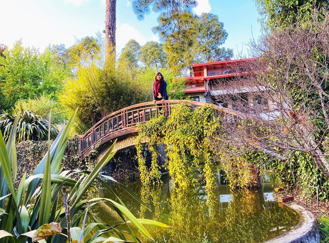
[[[224,23],[228,38],[223,45],[234,54],[248,56],[246,44],[252,35],[258,38],[260,25],[252,0],[199,0],[197,14],[212,12]],[[12,47],[22,38],[24,46],[35,46],[43,51],[48,44],[74,44],[75,37],[94,36],[102,32],[105,21],[105,0],[0,0],[0,43]],[[143,21],[137,20],[129,0],[117,0],[117,53],[128,42],[136,39],[159,41],[151,28],[157,25],[158,14],[151,13]]]

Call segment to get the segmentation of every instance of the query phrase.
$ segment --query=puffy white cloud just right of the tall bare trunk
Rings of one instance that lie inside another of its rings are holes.
[[[136,40],[140,45],[144,45],[147,41],[158,41],[159,36],[151,34],[149,36],[145,36],[139,32],[135,27],[124,23],[117,27],[115,34],[115,42],[116,42],[116,52],[121,52],[121,49],[127,44],[130,39]]]

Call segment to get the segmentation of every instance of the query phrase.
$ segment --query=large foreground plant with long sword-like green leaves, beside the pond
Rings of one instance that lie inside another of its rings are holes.
[[[16,131],[18,116],[13,122],[6,145],[0,133],[0,243],[32,241],[43,243],[67,241],[69,243],[105,243],[127,241],[127,231],[124,233],[119,230],[119,225],[126,225],[129,231],[128,234],[131,235],[132,239],[135,242],[140,242],[132,231],[130,224],[134,224],[148,237],[151,237],[151,235],[143,225],[168,227],[153,220],[137,219],[114,191],[98,177],[100,170],[115,154],[113,152],[115,142],[92,171],[61,170],[62,157],[75,114],[76,111],[51,146],[49,142],[48,152],[38,164],[34,174],[29,178],[26,178],[26,174],[24,174],[17,188],[14,187],[17,175],[16,133],[14,131]],[[80,174],[80,178],[74,180],[71,178],[72,174]],[[116,199],[92,198],[88,202],[83,199],[87,190],[91,189],[91,184],[95,179],[110,190]],[[116,182],[111,177],[107,177],[107,179]],[[62,195],[63,187],[66,186],[71,189],[67,196],[64,193],[65,205],[61,205],[59,198]],[[123,187],[140,204],[145,205],[129,188]],[[90,213],[90,210],[88,211],[88,209],[101,202],[106,202],[114,208],[122,219],[121,224],[110,226],[99,222]],[[86,217],[90,217],[93,223],[85,227]],[[82,218],[84,218],[83,227],[80,228]],[[95,227],[98,228],[96,233],[88,237]]]

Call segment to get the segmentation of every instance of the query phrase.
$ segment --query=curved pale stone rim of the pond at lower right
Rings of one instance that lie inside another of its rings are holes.
[[[291,204],[289,207],[298,212],[299,224],[280,236],[263,243],[318,243],[320,242],[320,231],[316,217],[304,207],[298,204]]]

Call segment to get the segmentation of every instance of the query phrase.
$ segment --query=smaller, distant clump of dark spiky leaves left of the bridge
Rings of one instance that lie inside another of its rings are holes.
[[[21,105],[18,108],[13,109],[12,113],[3,110],[3,113],[0,114],[0,130],[5,142],[9,138],[16,117],[18,117],[16,129],[17,143],[25,140],[47,140],[49,121],[30,110],[24,110]],[[55,139],[57,135],[57,128],[50,123],[50,139]]]

